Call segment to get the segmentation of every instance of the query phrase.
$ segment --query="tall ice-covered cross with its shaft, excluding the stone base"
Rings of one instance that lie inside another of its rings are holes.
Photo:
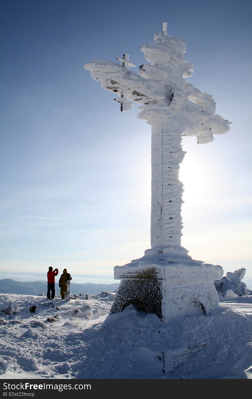
[[[193,65],[184,61],[184,41],[167,36],[167,23],[154,36],[155,42],[141,47],[150,64],[131,71],[129,55],[117,60],[95,59],[84,68],[101,82],[104,89],[117,93],[121,111],[132,109],[133,100],[141,104],[138,118],[152,125],[152,204],[151,247],[162,253],[181,249],[182,183],[179,164],[184,158],[182,136],[197,136],[198,143],[213,140],[213,134],[226,133],[229,123],[215,115],[215,101],[201,93],[184,78],[193,73]]]

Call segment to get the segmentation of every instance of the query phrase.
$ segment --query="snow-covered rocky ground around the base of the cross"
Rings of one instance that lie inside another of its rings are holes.
[[[0,377],[252,378],[252,296],[169,323],[132,305],[108,316],[113,296],[103,296],[0,294]]]

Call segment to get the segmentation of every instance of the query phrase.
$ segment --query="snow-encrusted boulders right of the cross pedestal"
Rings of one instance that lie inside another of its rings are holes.
[[[215,280],[214,285],[218,292],[219,298],[235,298],[236,296],[251,295],[252,290],[249,290],[244,282],[246,269],[235,270],[233,273],[227,272],[226,277],[220,280]]]

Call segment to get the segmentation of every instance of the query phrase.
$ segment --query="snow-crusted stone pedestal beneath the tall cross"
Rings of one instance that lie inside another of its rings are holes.
[[[220,266],[192,259],[186,262],[184,258],[172,262],[147,253],[129,265],[114,268],[114,277],[121,283],[110,313],[133,304],[164,322],[177,316],[210,314],[219,305],[213,280],[222,275]]]

